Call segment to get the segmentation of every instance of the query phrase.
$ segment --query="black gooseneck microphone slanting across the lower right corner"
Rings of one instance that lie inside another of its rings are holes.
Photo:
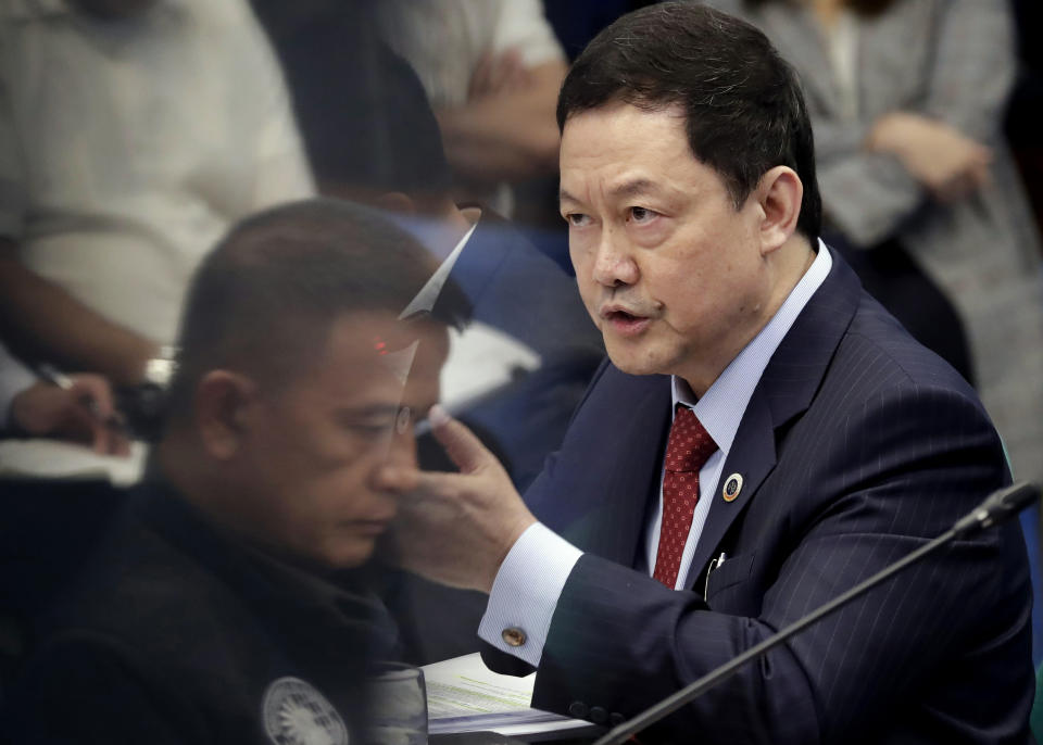
[[[686,685],[677,693],[671,694],[661,700],[658,704],[649,707],[633,719],[625,721],[618,727],[613,728],[604,736],[594,742],[593,745],[618,745],[619,743],[623,743],[625,740],[630,737],[630,735],[640,732],[650,724],[654,724],[668,714],[676,711],[689,702],[698,698],[703,693],[720,683],[722,680],[730,678],[746,662],[761,657],[768,649],[778,646],[793,634],[797,633],[799,631],[803,631],[805,628],[820,618],[842,608],[847,603],[880,584],[880,582],[888,579],[892,574],[896,574],[910,564],[916,564],[928,554],[941,548],[957,538],[963,539],[975,535],[976,533],[980,533],[983,530],[988,530],[993,526],[1010,519],[1030,504],[1038,502],[1040,500],[1040,485],[1030,481],[1020,481],[1016,484],[1007,487],[1006,489],[1001,489],[1000,491],[993,492],[985,497],[984,502],[958,519],[952,528],[935,538],[933,541],[923,544],[891,566],[881,569],[869,579],[856,584],[854,588],[842,595],[834,597],[826,605],[819,606],[807,616],[804,616],[771,636],[768,636],[759,644],[750,647],[738,657],[725,662],[715,670],[711,670],[708,673],[699,680],[693,681],[689,685]]]

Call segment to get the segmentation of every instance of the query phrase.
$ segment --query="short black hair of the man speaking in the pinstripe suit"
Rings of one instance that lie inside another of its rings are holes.
[[[796,73],[755,27],[695,2],[662,2],[621,16],[573,64],[557,124],[621,101],[679,106],[692,153],[724,179],[736,207],[777,165],[804,185],[797,220],[815,241],[822,205],[812,124]]]

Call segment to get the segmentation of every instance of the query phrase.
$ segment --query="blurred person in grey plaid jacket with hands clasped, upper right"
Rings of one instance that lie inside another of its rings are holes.
[[[827,240],[846,243],[870,293],[976,384],[1015,478],[1043,477],[1039,242],[1003,139],[1016,72],[1008,2],[707,4],[762,28],[796,67]],[[944,298],[932,300],[931,283]]]

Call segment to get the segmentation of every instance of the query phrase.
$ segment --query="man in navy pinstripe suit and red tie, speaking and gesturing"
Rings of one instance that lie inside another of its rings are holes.
[[[941,533],[1009,475],[970,387],[818,241],[807,114],[759,31],[690,3],[625,16],[577,60],[558,123],[562,213],[611,364],[525,503],[438,413],[462,472],[381,478],[412,492],[401,561],[490,593],[487,661],[538,668],[535,706],[612,724]],[[683,409],[715,452],[694,466],[678,536],[664,453]],[[1029,611],[1017,528],[993,531],[656,734],[1030,742]]]

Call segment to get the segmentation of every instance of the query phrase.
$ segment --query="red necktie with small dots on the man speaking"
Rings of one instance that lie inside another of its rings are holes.
[[[692,513],[699,502],[699,469],[717,450],[695,413],[677,405],[674,425],[666,443],[666,463],[663,470],[663,525],[659,528],[659,548],[655,554],[652,577],[670,590],[677,584],[681,554],[692,529]]]

